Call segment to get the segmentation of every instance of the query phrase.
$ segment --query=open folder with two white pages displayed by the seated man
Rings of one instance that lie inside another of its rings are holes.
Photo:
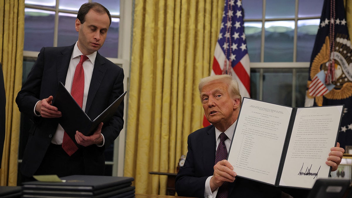
[[[289,107],[243,98],[228,161],[238,177],[312,188],[328,178],[344,105]]]

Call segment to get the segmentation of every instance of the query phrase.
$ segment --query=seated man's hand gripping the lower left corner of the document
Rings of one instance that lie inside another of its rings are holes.
[[[227,160],[221,160],[214,166],[214,174],[210,179],[210,188],[212,191],[220,187],[225,181],[234,182],[236,173],[233,167]]]

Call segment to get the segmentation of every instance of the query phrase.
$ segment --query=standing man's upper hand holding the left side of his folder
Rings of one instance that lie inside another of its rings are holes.
[[[57,107],[52,106],[52,95],[49,98],[40,100],[36,106],[36,113],[43,118],[59,118],[62,116],[61,111],[58,111]]]

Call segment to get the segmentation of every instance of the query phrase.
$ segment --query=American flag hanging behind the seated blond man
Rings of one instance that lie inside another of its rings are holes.
[[[240,0],[225,0],[212,75],[229,74],[237,80],[242,97],[250,97],[250,68]],[[210,123],[204,117],[203,126]]]

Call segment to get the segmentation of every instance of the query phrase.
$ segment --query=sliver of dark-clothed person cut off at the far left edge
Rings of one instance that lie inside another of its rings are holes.
[[[2,72],[2,66],[0,63],[0,168],[1,168],[2,151],[4,149],[4,141],[5,141],[5,122],[6,122],[5,106],[6,106],[6,95],[5,95],[4,74]]]

